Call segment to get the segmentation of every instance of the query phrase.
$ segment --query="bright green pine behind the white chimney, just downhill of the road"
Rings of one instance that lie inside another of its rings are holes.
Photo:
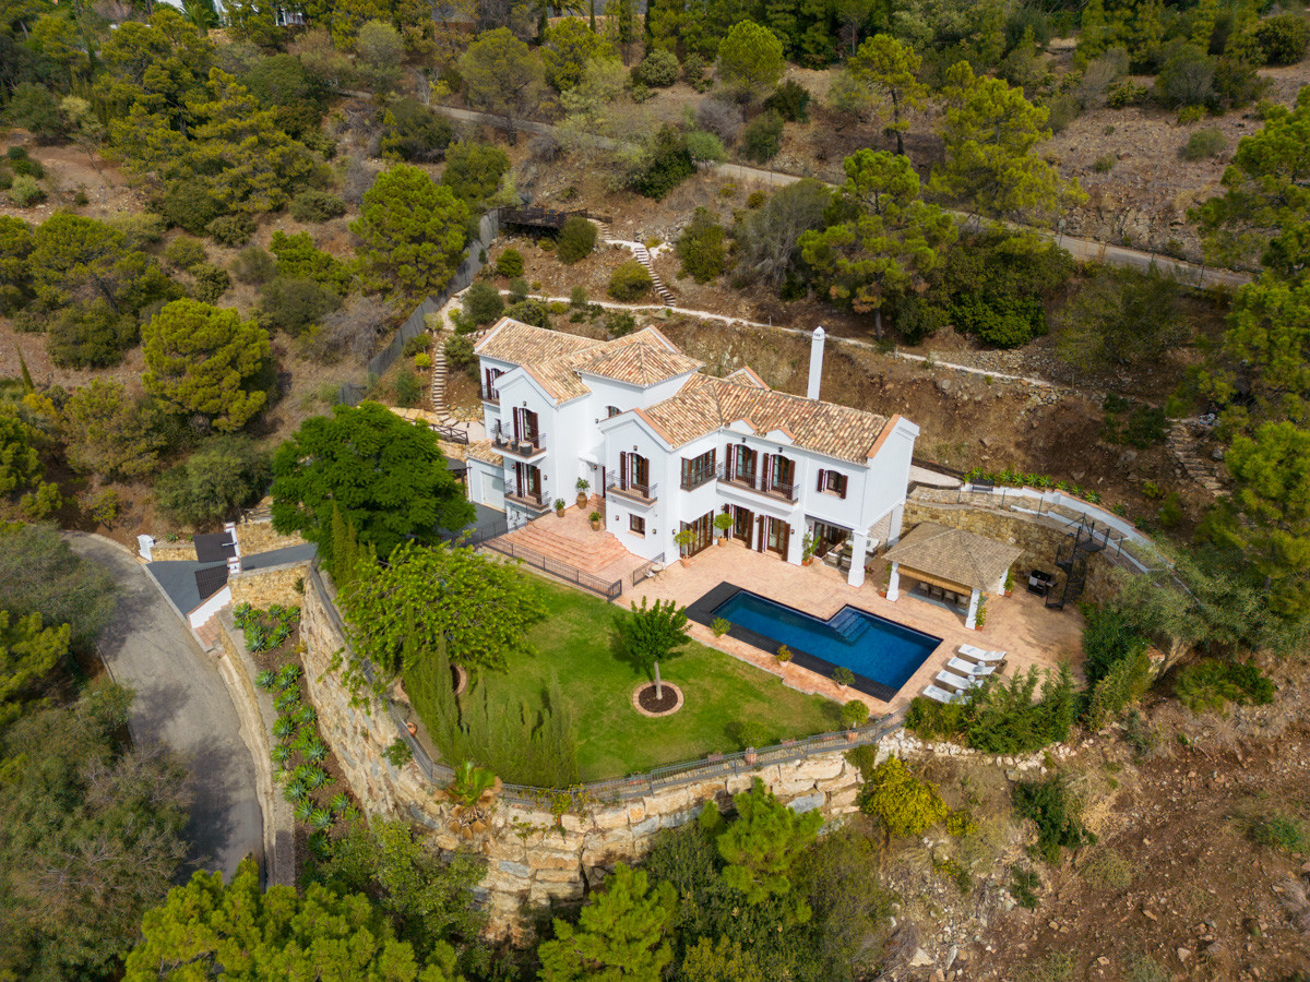
[[[955,223],[920,198],[918,174],[904,156],[859,151],[846,157],[842,200],[849,221],[800,237],[800,254],[828,296],[874,313],[904,296],[937,268],[939,250],[955,241]]]

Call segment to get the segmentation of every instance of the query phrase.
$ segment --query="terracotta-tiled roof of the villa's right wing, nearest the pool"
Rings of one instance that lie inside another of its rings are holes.
[[[744,420],[757,433],[783,429],[795,446],[853,464],[867,462],[887,427],[887,418],[876,412],[703,374],[692,376],[676,395],[639,412],[673,446]]]

